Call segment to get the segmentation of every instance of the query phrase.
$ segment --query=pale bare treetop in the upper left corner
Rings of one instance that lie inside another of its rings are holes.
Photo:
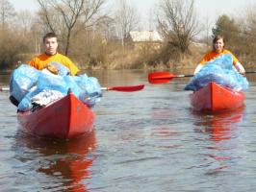
[[[2,28],[5,27],[6,22],[13,18],[15,15],[13,5],[9,2],[9,0],[0,0],[0,19]]]

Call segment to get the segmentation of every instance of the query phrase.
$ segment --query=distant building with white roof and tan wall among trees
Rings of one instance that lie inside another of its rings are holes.
[[[143,49],[145,46],[159,49],[163,41],[157,31],[132,31],[129,35],[135,47],[139,49]]]

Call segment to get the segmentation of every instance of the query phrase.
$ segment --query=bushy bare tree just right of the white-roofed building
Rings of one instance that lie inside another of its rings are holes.
[[[181,53],[189,51],[194,36],[200,33],[193,0],[162,0],[160,2],[159,27],[171,46]]]

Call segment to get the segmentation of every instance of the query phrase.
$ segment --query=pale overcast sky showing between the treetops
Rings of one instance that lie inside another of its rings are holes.
[[[117,0],[108,0],[110,9],[116,6]],[[150,17],[154,17],[156,11],[156,3],[161,0],[130,0],[131,4],[137,7],[142,19],[141,28],[146,28],[150,30]],[[37,10],[38,3],[37,0],[10,0],[15,9],[27,9],[27,10]],[[200,21],[214,23],[218,15],[226,13],[231,16],[243,16],[245,13],[245,8],[256,5],[255,0],[194,0],[195,8],[198,12],[198,17]]]

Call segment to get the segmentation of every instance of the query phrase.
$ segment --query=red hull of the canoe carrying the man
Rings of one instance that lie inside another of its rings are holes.
[[[18,112],[22,129],[38,136],[70,138],[91,132],[94,113],[73,94],[36,110]]]

